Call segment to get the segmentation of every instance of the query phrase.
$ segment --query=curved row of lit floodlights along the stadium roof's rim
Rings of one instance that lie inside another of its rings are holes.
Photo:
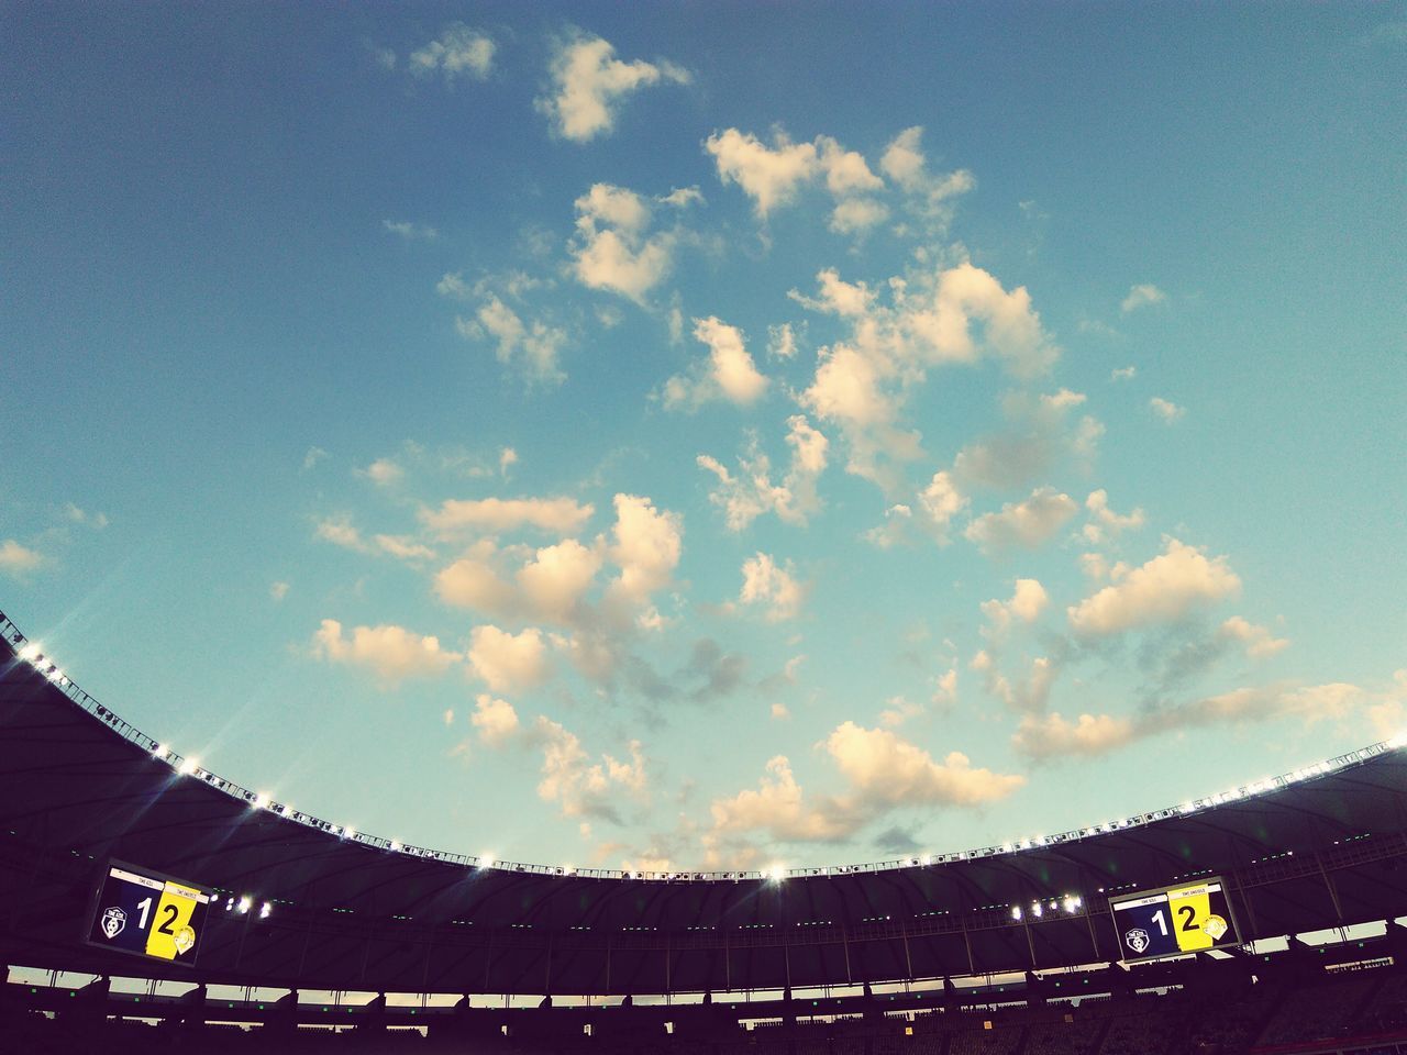
[[[77,686],[58,668],[52,657],[45,657],[41,646],[37,641],[28,641],[23,633],[11,623],[3,612],[0,612],[0,629],[6,633],[8,640],[17,646],[17,654],[21,660],[30,663],[35,670],[38,670],[45,678],[65,689],[70,698],[76,692],[82,696],[82,701],[91,703],[98,713],[98,717],[110,722],[118,723],[121,719],[107,708],[103,708],[89,696],[86,692],[77,689]],[[75,701],[79,702],[79,701]],[[82,702],[80,702],[82,705]],[[122,722],[125,726],[127,723]],[[131,729],[131,726],[128,726]],[[135,730],[134,730],[135,733]],[[575,876],[587,875],[591,878],[606,878],[606,879],[647,879],[647,881],[661,881],[661,882],[692,882],[692,881],[765,881],[771,883],[779,883],[788,878],[806,878],[806,876],[843,876],[855,875],[862,872],[879,872],[892,871],[898,868],[929,868],[936,864],[957,864],[964,861],[979,861],[988,857],[998,857],[1002,854],[1017,854],[1029,850],[1038,850],[1044,847],[1058,845],[1062,843],[1071,843],[1079,838],[1090,838],[1100,834],[1110,834],[1114,831],[1121,831],[1130,827],[1140,827],[1144,824],[1151,824],[1158,820],[1165,820],[1169,817],[1188,816],[1190,813],[1197,813],[1204,809],[1213,809],[1216,806],[1225,805],[1228,802],[1235,802],[1238,799],[1249,798],[1254,795],[1262,795],[1269,791],[1285,788],[1300,781],[1310,779],[1313,776],[1323,776],[1325,774],[1335,772],[1337,769],[1355,765],[1358,762],[1368,761],[1384,751],[1399,750],[1407,747],[1407,730],[1397,734],[1392,740],[1370,744],[1368,747],[1359,748],[1356,751],[1349,751],[1346,754],[1338,755],[1337,758],[1330,758],[1323,762],[1316,762],[1313,765],[1300,767],[1289,774],[1280,776],[1266,776],[1252,784],[1247,784],[1240,788],[1231,788],[1228,791],[1220,792],[1217,795],[1210,795],[1199,799],[1189,799],[1180,806],[1173,806],[1161,810],[1152,810],[1151,813],[1140,813],[1133,817],[1121,817],[1117,820],[1106,820],[1100,824],[1092,824],[1083,829],[1074,829],[1071,831],[1061,831],[1054,836],[1033,836],[1030,838],[1010,840],[1002,843],[1000,845],[981,847],[978,850],[964,850],[950,854],[924,854],[922,857],[899,858],[895,861],[878,861],[871,864],[858,865],[826,865],[822,868],[785,868],[784,865],[772,865],[765,871],[734,871],[734,872],[680,872],[680,871],[615,871],[615,869],[585,869],[578,871],[571,865],[530,865],[519,864],[512,861],[495,861],[491,854],[483,854],[480,857],[466,857],[463,854],[450,854],[442,850],[429,850],[426,847],[405,845],[400,840],[386,840],[377,836],[369,836],[366,833],[359,833],[355,827],[332,824],[331,821],[321,820],[308,813],[298,813],[286,803],[273,803],[270,798],[263,793],[256,793],[241,788],[239,785],[225,781],[208,769],[203,769],[200,762],[194,758],[183,758],[177,753],[167,748],[166,744],[159,744],[155,740],[142,737],[136,734],[139,740],[145,740],[152,744],[152,754],[162,758],[172,765],[179,774],[186,776],[198,776],[205,779],[208,784],[225,791],[227,793],[241,798],[250,803],[256,809],[270,809],[280,817],[288,820],[295,820],[308,827],[315,827],[318,830],[333,834],[339,838],[349,838],[362,843],[363,845],[371,845],[380,850],[388,850],[393,854],[408,854],[411,857],[424,857],[435,861],[446,861],[452,864],[464,864],[474,868],[488,869],[499,868],[502,871],[516,871],[528,872],[533,875],[557,875],[557,876]]]

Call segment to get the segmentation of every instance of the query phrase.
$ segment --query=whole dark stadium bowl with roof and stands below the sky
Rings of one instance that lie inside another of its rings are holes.
[[[567,874],[262,800],[0,629],[11,1051],[1407,1048],[1397,744],[941,858]],[[183,890],[190,942],[118,950],[156,917],[111,876]],[[1200,948],[1120,937],[1150,892],[1216,899],[1169,903]]]

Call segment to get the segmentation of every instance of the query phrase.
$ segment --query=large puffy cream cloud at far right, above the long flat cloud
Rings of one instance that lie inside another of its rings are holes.
[[[1225,557],[1207,560],[1202,550],[1166,540],[1166,550],[1067,609],[1071,629],[1090,637],[1123,633],[1152,623],[1172,623],[1241,592],[1241,580]]]

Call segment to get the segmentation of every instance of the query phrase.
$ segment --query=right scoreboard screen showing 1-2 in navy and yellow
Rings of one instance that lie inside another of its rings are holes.
[[[1241,944],[1220,879],[1110,897],[1109,907],[1126,964]]]

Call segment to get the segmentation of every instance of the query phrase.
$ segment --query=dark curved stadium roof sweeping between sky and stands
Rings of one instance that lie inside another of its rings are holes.
[[[1393,744],[1020,850],[785,879],[571,875],[281,816],[153,751],[3,629],[0,868],[4,904],[25,906],[6,913],[11,962],[121,971],[82,942],[108,859],[272,903],[267,920],[215,914],[204,975],[411,992],[763,989],[1109,961],[1110,893],[1207,875],[1227,881],[1244,940],[1407,903],[1407,758]]]

